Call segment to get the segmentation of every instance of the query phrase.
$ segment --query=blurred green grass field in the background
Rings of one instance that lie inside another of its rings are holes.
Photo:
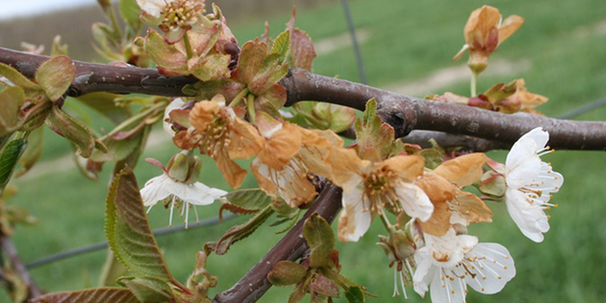
[[[482,4],[498,7],[504,17],[518,14],[526,18],[521,29],[491,56],[491,62],[510,62],[513,71],[481,76],[479,92],[495,82],[525,78],[533,93],[548,96],[550,102],[539,107],[549,116],[606,96],[606,5],[602,0],[502,0],[502,1],[351,1],[356,27],[368,38],[361,45],[367,78],[371,85],[393,87],[432,75],[441,68],[465,64],[452,62],[464,39],[462,28],[471,10]],[[229,16],[227,16],[229,18]],[[277,35],[288,21],[290,12],[271,18],[271,34]],[[229,19],[228,19],[229,21]],[[264,19],[232,23],[232,30],[242,43],[263,31]],[[306,30],[315,42],[347,32],[344,13],[336,2],[315,8],[299,9],[298,27]],[[336,42],[335,42],[336,43]],[[525,68],[518,68],[524,62]],[[517,69],[516,69],[517,68]],[[487,73],[491,67],[488,67]],[[350,47],[322,53],[315,61],[315,72],[358,81],[355,56]],[[451,91],[468,94],[468,73],[435,93]],[[606,108],[577,119],[604,120]],[[67,155],[67,143],[56,135],[45,137],[47,148],[43,161]],[[605,142],[606,145],[606,142]],[[156,144],[144,157],[168,161],[176,148]],[[490,153],[504,161],[506,153]],[[207,159],[207,158],[206,158]],[[545,241],[535,244],[525,238],[507,216],[504,205],[491,203],[493,224],[478,224],[470,233],[481,242],[505,245],[516,262],[516,278],[493,296],[470,291],[468,302],[602,302],[606,298],[606,155],[597,151],[558,151],[545,156],[555,170],[564,175],[564,187],[554,197],[560,205],[551,210],[551,230]],[[227,190],[211,161],[204,162],[202,178],[206,184]],[[38,217],[35,227],[19,227],[15,244],[25,262],[104,240],[103,220],[109,166],[99,182],[81,178],[75,168],[47,171],[35,178],[17,181],[19,195],[12,203],[22,205]],[[31,173],[38,173],[33,170]],[[136,170],[139,184],[159,175],[160,171],[145,162]],[[255,186],[248,176],[245,187]],[[217,215],[218,205],[199,207],[204,217]],[[165,227],[168,211],[151,211],[153,227]],[[232,224],[244,218],[211,228],[199,228],[159,238],[171,271],[183,281],[195,264],[195,253],[207,241],[215,241]],[[270,219],[272,221],[272,219]],[[210,272],[219,278],[218,290],[236,282],[280,238],[280,228],[262,227],[258,235],[234,245],[225,256],[211,256]],[[370,302],[400,302],[391,298],[393,271],[387,258],[376,247],[381,224],[373,224],[358,243],[339,243],[342,274],[368,287],[379,299]],[[105,251],[82,255],[32,270],[38,284],[48,291],[76,290],[97,284]],[[260,302],[285,302],[290,288],[272,288]],[[0,302],[5,302],[0,290]],[[408,288],[411,302],[422,301]],[[337,300],[344,302],[344,300]],[[428,302],[428,300],[425,300]]]

